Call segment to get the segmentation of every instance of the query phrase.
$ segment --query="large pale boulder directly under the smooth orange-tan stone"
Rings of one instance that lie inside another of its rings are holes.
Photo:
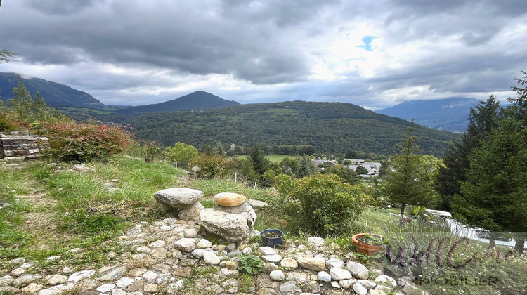
[[[240,213],[228,213],[214,209],[200,211],[200,222],[207,232],[235,243],[245,241],[252,236],[254,219],[247,211]]]

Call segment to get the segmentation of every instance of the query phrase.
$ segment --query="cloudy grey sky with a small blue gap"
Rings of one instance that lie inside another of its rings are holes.
[[[207,91],[239,103],[515,97],[525,0],[4,0],[1,63],[147,105]]]

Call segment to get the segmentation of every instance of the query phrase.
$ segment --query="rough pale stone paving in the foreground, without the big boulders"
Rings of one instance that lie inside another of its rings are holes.
[[[17,258],[9,261],[9,275],[0,277],[0,293],[60,294],[75,290],[78,294],[183,294],[183,280],[193,268],[214,265],[218,272],[197,280],[195,289],[215,290],[215,294],[240,294],[238,291],[238,261],[247,252],[261,256],[266,262],[264,272],[256,275],[256,286],[250,294],[393,294],[398,284],[393,277],[382,274],[382,267],[366,268],[353,261],[353,253],[343,253],[335,245],[314,247],[287,240],[285,247],[261,247],[258,243],[228,245],[213,243],[200,235],[199,225],[176,218],[156,223],[140,223],[117,237],[119,243],[135,249],[115,257],[115,264],[98,269],[77,270],[65,265],[62,273],[37,274],[34,261]],[[318,239],[312,239],[321,242]],[[82,249],[72,249],[82,255]],[[53,256],[60,261],[60,257]],[[149,261],[145,268],[138,261]],[[344,267],[346,265],[346,267]],[[24,272],[18,270],[24,269]],[[74,271],[75,270],[75,271]],[[403,286],[408,294],[425,294],[410,281]],[[180,293],[178,293],[180,292]],[[77,293],[75,293],[77,294]],[[404,294],[404,293],[395,293]]]

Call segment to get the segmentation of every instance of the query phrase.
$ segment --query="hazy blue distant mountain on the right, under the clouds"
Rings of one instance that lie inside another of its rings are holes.
[[[412,100],[376,112],[405,120],[415,119],[415,123],[429,128],[460,133],[467,130],[470,108],[478,103],[479,100],[474,98]]]

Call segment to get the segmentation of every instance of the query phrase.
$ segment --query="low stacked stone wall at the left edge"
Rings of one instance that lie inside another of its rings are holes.
[[[27,131],[0,133],[0,159],[6,163],[37,159],[46,147],[49,143],[44,136],[30,136]]]

